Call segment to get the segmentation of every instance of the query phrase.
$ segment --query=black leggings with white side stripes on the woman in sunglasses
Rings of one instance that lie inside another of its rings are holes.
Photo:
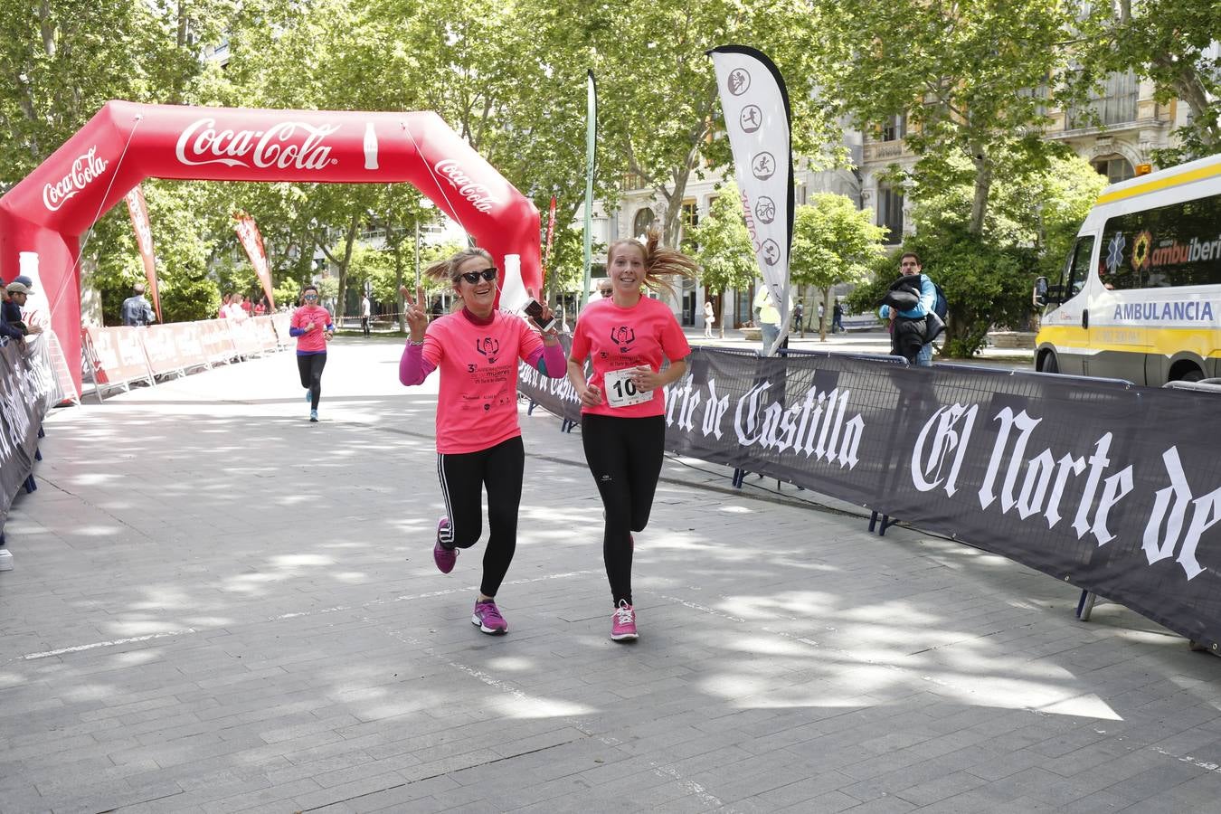
[[[484,580],[479,589],[495,597],[518,548],[518,506],[526,450],[521,436],[474,453],[437,454],[437,476],[446,500],[449,528],[441,535],[446,548],[470,548],[484,533],[482,491],[487,489],[487,546]]]

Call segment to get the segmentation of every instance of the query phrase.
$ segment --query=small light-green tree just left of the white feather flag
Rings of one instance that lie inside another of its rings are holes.
[[[725,292],[750,288],[758,276],[755,249],[751,248],[751,238],[742,220],[742,199],[737,184],[730,181],[720,187],[720,194],[708,207],[708,215],[695,228],[687,229],[685,249],[700,262],[700,282],[703,287],[720,295],[717,323],[724,338]]]

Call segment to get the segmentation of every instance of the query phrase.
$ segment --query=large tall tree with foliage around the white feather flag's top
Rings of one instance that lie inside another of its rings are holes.
[[[580,0],[552,5],[559,24],[580,29],[597,74],[601,155],[664,201],[665,245],[678,244],[687,183],[731,166],[728,140],[714,138],[724,124],[708,49],[750,43],[772,57],[786,78],[796,153],[822,156],[824,145],[838,142],[816,93],[819,66],[802,37],[819,27],[818,7],[785,0],[637,0],[601,4],[591,13]]]

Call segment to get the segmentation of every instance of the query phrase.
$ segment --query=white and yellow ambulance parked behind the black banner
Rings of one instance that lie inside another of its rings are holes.
[[[1035,370],[1156,387],[1221,376],[1221,154],[1107,187],[1034,303]]]

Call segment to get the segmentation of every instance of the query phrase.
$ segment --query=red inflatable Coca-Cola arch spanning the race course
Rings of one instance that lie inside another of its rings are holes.
[[[37,275],[78,388],[81,236],[150,177],[405,181],[492,254],[502,286],[505,255],[518,255],[525,289],[541,288],[538,210],[433,112],[110,101],[0,198],[0,277]]]

